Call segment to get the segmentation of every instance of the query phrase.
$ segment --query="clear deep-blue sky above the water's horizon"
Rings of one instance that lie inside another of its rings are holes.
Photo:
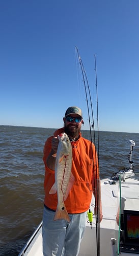
[[[138,0],[0,0],[0,125],[139,133],[138,29]]]

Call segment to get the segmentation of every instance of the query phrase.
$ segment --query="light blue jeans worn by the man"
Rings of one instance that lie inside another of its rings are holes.
[[[43,211],[43,255],[77,256],[86,227],[87,213],[69,214],[70,223],[65,220],[53,221],[55,212],[44,207]]]

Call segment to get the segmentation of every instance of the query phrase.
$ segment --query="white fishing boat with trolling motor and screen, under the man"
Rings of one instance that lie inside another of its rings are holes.
[[[103,220],[99,229],[99,253],[96,246],[96,217],[92,223],[87,215],[86,230],[81,241],[79,256],[136,256],[139,255],[139,175],[135,174],[132,151],[135,146],[129,140],[129,167],[101,180]],[[90,211],[94,212],[92,197]],[[119,216],[119,223],[118,223]],[[42,222],[18,256],[41,256]]]

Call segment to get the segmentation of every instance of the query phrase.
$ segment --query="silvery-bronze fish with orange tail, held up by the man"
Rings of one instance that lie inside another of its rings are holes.
[[[55,182],[52,185],[49,194],[58,195],[57,210],[53,220],[65,219],[70,222],[70,217],[67,212],[64,201],[69,195],[69,191],[74,183],[74,176],[71,173],[72,167],[72,146],[69,137],[66,133],[58,135],[59,144],[55,160]]]

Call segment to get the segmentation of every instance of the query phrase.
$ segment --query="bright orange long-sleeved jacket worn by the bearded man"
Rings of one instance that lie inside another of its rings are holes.
[[[61,128],[54,132],[56,137],[64,132]],[[51,140],[53,136],[49,137],[44,145],[43,161],[45,164],[45,179],[44,190],[45,198],[44,204],[53,210],[57,209],[57,193],[49,194],[49,190],[54,183],[54,170],[48,168],[46,159],[51,151]],[[92,181],[99,179],[98,160],[95,146],[91,141],[80,137],[77,141],[71,141],[72,145],[72,169],[71,172],[75,178],[73,186],[65,201],[65,206],[69,214],[79,214],[89,209],[92,198]],[[92,154],[93,149],[93,154]],[[93,160],[92,160],[93,156]]]

